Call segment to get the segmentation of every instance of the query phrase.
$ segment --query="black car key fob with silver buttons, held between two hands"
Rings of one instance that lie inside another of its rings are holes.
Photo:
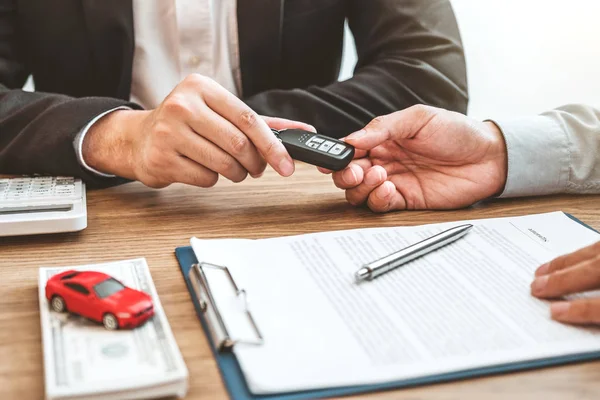
[[[341,140],[302,129],[271,130],[294,160],[339,171],[354,158],[354,147]]]

